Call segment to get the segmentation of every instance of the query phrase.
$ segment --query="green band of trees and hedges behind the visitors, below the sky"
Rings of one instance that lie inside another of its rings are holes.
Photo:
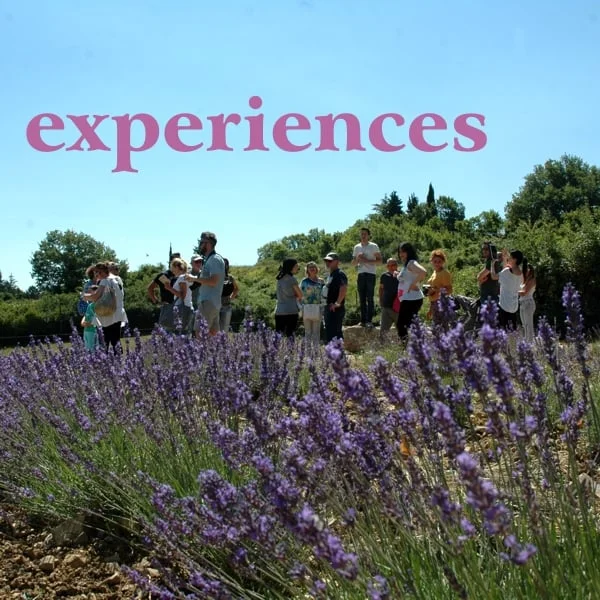
[[[524,185],[507,203],[504,217],[488,210],[466,219],[460,202],[449,196],[436,197],[433,185],[429,185],[423,201],[414,193],[405,198],[397,191],[385,194],[345,231],[312,229],[266,243],[258,251],[256,265],[231,268],[240,284],[232,317],[234,328],[242,324],[247,308],[253,319],[274,325],[275,275],[284,258],[293,256],[301,263],[315,260],[323,265],[322,258],[331,250],[340,254],[350,280],[346,323],[358,322],[356,273],[348,263],[364,225],[371,229],[384,260],[395,255],[403,241],[417,247],[420,260],[428,267],[429,252],[446,250],[455,293],[466,296],[477,295],[483,241],[519,249],[536,267],[536,316],[546,315],[561,330],[561,294],[571,282],[582,294],[587,328],[600,326],[600,171],[578,157],[565,155],[536,166],[525,177]],[[189,254],[196,251],[197,247],[192,248]],[[119,260],[110,248],[90,236],[54,231],[34,255],[35,287],[23,292],[14,279],[5,281],[0,275],[0,344],[27,343],[30,335],[69,335],[71,322],[78,325],[80,320],[76,302],[82,274],[98,257],[121,264],[130,323],[142,332],[150,331],[158,309],[148,302],[146,287],[165,268],[166,261],[130,271],[126,260]],[[383,270],[379,268],[379,272]]]

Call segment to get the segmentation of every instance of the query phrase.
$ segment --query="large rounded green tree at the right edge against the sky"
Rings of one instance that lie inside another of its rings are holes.
[[[600,170],[564,154],[536,165],[525,177],[505,207],[507,229],[514,230],[520,221],[535,223],[544,215],[560,222],[566,213],[584,206],[600,206]]]

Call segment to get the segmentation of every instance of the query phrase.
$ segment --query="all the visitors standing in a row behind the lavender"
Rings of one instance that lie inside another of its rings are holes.
[[[366,328],[374,327],[377,266],[382,264],[381,251],[370,238],[371,232],[363,227],[351,263],[358,272],[360,325]],[[216,245],[216,235],[203,232],[200,253],[194,254],[189,264],[179,253],[172,254],[168,269],[148,285],[148,298],[160,305],[158,324],[165,330],[198,337],[202,322],[206,323],[212,336],[230,330],[232,301],[239,294],[239,284],[229,273],[229,261],[216,251]],[[524,335],[531,340],[536,289],[533,267],[521,251],[504,249],[498,255],[490,242],[482,245],[482,257],[484,264],[477,274],[480,305],[496,302],[498,323],[506,329],[517,328],[517,315],[520,314]],[[276,331],[293,337],[301,318],[305,337],[313,346],[320,343],[322,326],[327,343],[344,337],[348,277],[340,268],[336,252],[329,252],[323,260],[326,278],[320,277],[317,263],[310,261],[306,264],[305,276],[298,282],[300,265],[294,258],[284,260],[276,276]],[[426,297],[429,300],[427,318],[434,323],[444,318],[438,301],[442,294],[453,294],[453,278],[446,266],[446,253],[441,249],[434,250],[429,262],[433,273],[427,279],[427,269],[419,263],[417,251],[409,242],[398,246],[397,257],[387,259],[378,291],[382,340],[392,325],[395,325],[399,338],[406,339]],[[80,301],[85,345],[90,350],[98,347],[97,330],[101,328],[106,349],[112,347],[116,352],[122,329],[127,324],[119,266],[100,262],[89,267],[86,275],[88,281]]]

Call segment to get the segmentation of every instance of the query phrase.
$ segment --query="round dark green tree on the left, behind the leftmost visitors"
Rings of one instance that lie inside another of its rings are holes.
[[[85,270],[99,261],[115,261],[115,251],[85,233],[50,231],[33,253],[31,276],[42,292],[77,291]]]

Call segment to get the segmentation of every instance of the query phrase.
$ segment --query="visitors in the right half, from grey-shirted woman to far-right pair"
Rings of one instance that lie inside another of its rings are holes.
[[[372,328],[375,314],[375,285],[377,266],[382,264],[381,251],[371,241],[367,227],[360,230],[360,242],[352,254],[352,265],[358,271],[357,292],[360,303],[360,325]],[[520,250],[503,250],[498,256],[490,242],[482,246],[484,265],[477,275],[479,305],[496,302],[498,324],[505,329],[518,327],[520,315],[524,336],[534,336],[533,316],[535,313],[534,293],[536,279],[534,268]],[[302,318],[306,338],[318,344],[321,324],[325,328],[325,340],[343,338],[342,325],[348,291],[348,277],[340,269],[339,256],[330,252],[324,257],[328,271],[327,279],[319,277],[316,263],[306,265],[305,277],[298,282],[298,261],[288,258],[283,261],[277,274],[277,304],[275,328],[285,336],[295,335],[299,319]],[[442,294],[452,296],[453,277],[447,268],[447,255],[442,249],[431,252],[429,262],[432,274],[427,278],[427,269],[419,263],[415,247],[404,242],[398,246],[397,257],[386,261],[386,270],[379,278],[379,306],[381,321],[379,335],[387,337],[392,325],[400,339],[406,339],[409,328],[420,313],[425,298],[429,301],[426,318],[439,323],[445,318],[439,302]]]

